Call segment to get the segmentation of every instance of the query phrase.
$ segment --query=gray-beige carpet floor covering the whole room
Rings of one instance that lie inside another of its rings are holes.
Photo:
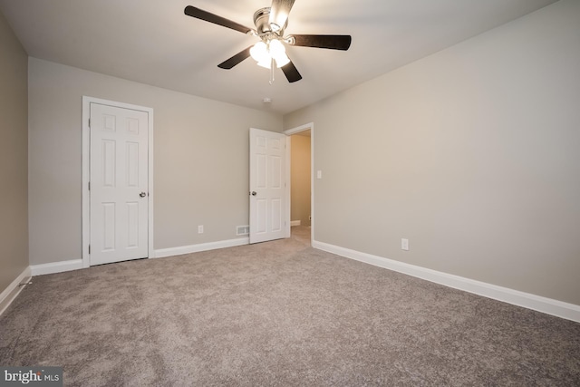
[[[36,276],[0,364],[78,386],[578,386],[580,324],[310,247],[254,246]]]

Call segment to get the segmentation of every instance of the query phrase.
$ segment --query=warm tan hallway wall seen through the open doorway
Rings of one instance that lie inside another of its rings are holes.
[[[290,137],[290,219],[310,226],[310,137]]]

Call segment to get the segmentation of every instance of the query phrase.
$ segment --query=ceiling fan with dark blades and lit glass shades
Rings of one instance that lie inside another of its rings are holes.
[[[272,0],[272,6],[258,9],[254,14],[256,29],[237,24],[191,5],[188,5],[184,12],[185,15],[196,19],[222,25],[260,39],[253,46],[247,47],[247,49],[219,63],[219,68],[229,70],[251,56],[258,65],[270,69],[270,83],[274,82],[274,66],[282,69],[288,82],[296,82],[302,79],[302,75],[298,73],[294,63],[285,53],[285,44],[346,51],[351,46],[352,38],[350,35],[320,34],[292,34],[285,36],[288,14],[290,14],[294,3],[295,0]]]

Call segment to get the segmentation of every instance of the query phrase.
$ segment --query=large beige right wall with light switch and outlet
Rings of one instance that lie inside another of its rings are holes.
[[[580,305],[578,20],[560,1],[286,115],[316,125],[316,240]]]

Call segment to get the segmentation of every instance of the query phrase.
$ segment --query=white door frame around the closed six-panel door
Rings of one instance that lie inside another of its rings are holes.
[[[153,109],[144,106],[132,105],[130,103],[114,102],[99,98],[82,96],[82,267],[91,266],[89,256],[89,243],[91,241],[91,202],[89,192],[89,179],[91,178],[91,132],[89,129],[89,118],[91,117],[91,103],[114,106],[122,109],[134,111],[145,111],[148,115],[149,139],[148,139],[148,169],[149,169],[149,200],[148,201],[148,253],[150,258],[155,257],[153,248]]]

